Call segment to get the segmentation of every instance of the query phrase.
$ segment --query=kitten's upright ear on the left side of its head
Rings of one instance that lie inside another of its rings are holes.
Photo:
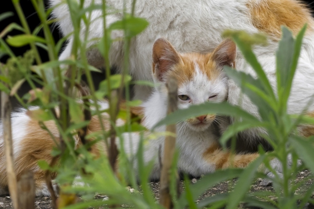
[[[180,55],[164,38],[157,39],[153,45],[153,74],[158,81],[164,81],[165,72],[180,62]]]

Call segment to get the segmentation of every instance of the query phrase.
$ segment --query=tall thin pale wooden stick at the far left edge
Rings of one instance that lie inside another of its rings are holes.
[[[1,117],[3,122],[3,140],[5,148],[5,160],[7,167],[7,178],[10,196],[13,203],[13,208],[18,209],[18,188],[16,176],[14,172],[12,132],[11,132],[11,102],[8,94],[1,92]]]

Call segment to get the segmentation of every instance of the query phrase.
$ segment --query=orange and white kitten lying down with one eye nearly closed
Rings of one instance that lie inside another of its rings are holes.
[[[235,66],[236,45],[229,39],[223,41],[212,53],[179,54],[165,39],[157,39],[153,46],[153,75],[156,88],[149,99],[141,105],[142,125],[150,130],[166,116],[167,89],[165,81],[170,75],[178,80],[178,108],[187,108],[192,104],[203,102],[224,102],[228,97],[228,78],[224,65]],[[107,102],[99,102],[102,109],[108,108]],[[179,149],[178,170],[200,176],[225,169],[230,166],[245,167],[258,156],[255,154],[231,154],[223,150],[214,134],[213,122],[217,116],[202,115],[176,124],[176,146]],[[108,115],[103,113],[105,127],[109,127]],[[53,121],[45,122],[46,127],[58,140],[59,134]],[[117,124],[123,124],[121,119]],[[97,117],[93,117],[88,125],[88,133],[101,130]],[[157,132],[165,132],[165,126],[157,128]],[[28,117],[26,110],[12,114],[13,149],[17,178],[23,172],[31,170],[35,174],[36,195],[48,196],[44,172],[37,165],[39,159],[51,162],[51,149],[55,146],[50,135],[40,128],[37,121]],[[128,154],[135,154],[140,140],[139,133],[124,133],[124,148]],[[77,139],[79,143],[79,140]],[[131,143],[132,142],[132,143]],[[119,143],[119,140],[117,140]],[[160,177],[158,148],[163,150],[164,136],[145,143],[145,162],[154,160],[152,179]],[[0,138],[0,188],[7,187],[4,162],[4,145]],[[91,152],[99,154],[105,149],[93,147]],[[278,160],[271,165],[280,172]],[[136,167],[136,163],[135,163]],[[52,175],[54,177],[55,174]]]

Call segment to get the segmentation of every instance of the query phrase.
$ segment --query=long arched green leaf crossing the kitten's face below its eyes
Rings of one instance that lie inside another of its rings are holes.
[[[177,110],[165,118],[160,120],[157,124],[154,125],[153,129],[161,125],[174,124],[179,121],[187,120],[188,118],[197,117],[199,115],[206,114],[217,114],[217,115],[226,115],[237,118],[242,118],[243,120],[256,123],[259,120],[250,113],[244,111],[238,106],[231,105],[229,103],[203,103],[199,105],[192,105],[187,109]]]

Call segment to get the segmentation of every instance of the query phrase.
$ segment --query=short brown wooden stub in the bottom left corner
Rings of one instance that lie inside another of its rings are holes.
[[[34,209],[35,208],[35,181],[34,174],[27,172],[21,176],[18,182],[19,190],[19,208]]]

